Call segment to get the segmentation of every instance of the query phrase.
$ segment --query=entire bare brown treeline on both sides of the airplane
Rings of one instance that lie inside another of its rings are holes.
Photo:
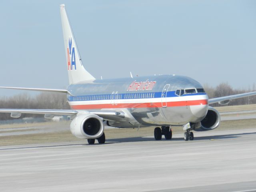
[[[256,91],[256,84],[251,88],[233,89],[228,83],[221,83],[216,87],[204,85],[209,98],[216,98],[245,92]],[[256,96],[244,97],[231,100],[227,105],[244,105],[256,104]],[[211,106],[220,106],[212,104]],[[68,105],[66,94],[42,92],[37,96],[30,96],[28,94],[18,94],[12,97],[0,98],[0,108],[2,109],[70,109]],[[42,117],[37,114],[22,114],[20,118],[24,117]],[[0,113],[0,120],[12,119],[10,113]]]

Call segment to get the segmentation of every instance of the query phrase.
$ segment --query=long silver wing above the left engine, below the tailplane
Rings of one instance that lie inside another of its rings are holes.
[[[124,118],[125,114],[119,110],[52,110],[52,109],[0,109],[0,113],[11,113],[11,117],[18,118],[22,113],[44,114],[45,118],[53,118],[54,115],[76,116],[79,112],[96,114],[104,120],[116,121]]]

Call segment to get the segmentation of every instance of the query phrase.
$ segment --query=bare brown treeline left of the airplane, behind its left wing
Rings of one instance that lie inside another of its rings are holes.
[[[42,92],[37,96],[18,94],[0,98],[1,109],[70,109],[66,94]],[[43,117],[38,114],[22,114],[24,117]],[[0,120],[9,120],[10,113],[0,113]]]

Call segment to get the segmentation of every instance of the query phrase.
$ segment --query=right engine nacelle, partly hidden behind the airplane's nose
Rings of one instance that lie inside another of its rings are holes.
[[[212,108],[208,108],[208,112],[205,118],[201,121],[200,128],[196,128],[195,131],[209,131],[216,129],[220,125],[220,114],[219,112]]]

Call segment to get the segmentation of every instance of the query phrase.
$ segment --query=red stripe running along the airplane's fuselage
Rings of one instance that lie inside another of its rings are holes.
[[[190,100],[190,101],[173,101],[166,102],[167,107],[207,105],[208,100]],[[165,102],[163,102],[165,106]],[[71,105],[72,109],[106,109],[106,108],[156,108],[162,107],[162,102],[156,103],[118,103],[118,104],[87,104],[87,105]]]

